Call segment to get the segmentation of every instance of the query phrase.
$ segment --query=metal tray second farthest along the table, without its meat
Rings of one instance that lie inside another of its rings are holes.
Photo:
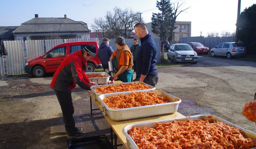
[[[128,84],[128,83],[133,83],[133,82],[114,83],[114,84],[105,84],[105,85],[94,85],[94,86],[91,86],[90,88],[91,88],[92,92],[94,92],[92,99],[98,100],[98,96],[100,96],[100,95],[105,95],[105,94],[97,93],[97,92],[95,91],[95,89],[96,89],[97,87],[108,86],[108,85]],[[153,86],[151,86],[151,85],[149,85],[149,84],[146,84],[146,83],[144,83],[144,82],[137,82],[137,83],[140,83],[140,84],[143,84],[143,85],[148,85],[148,86],[150,87],[150,89],[136,90],[136,91],[146,91],[146,90],[154,90],[154,89],[155,89],[155,87],[153,87]],[[129,91],[129,92],[131,92],[131,91]],[[117,93],[129,93],[129,92],[117,92]],[[107,93],[107,94],[116,94],[116,93]]]

